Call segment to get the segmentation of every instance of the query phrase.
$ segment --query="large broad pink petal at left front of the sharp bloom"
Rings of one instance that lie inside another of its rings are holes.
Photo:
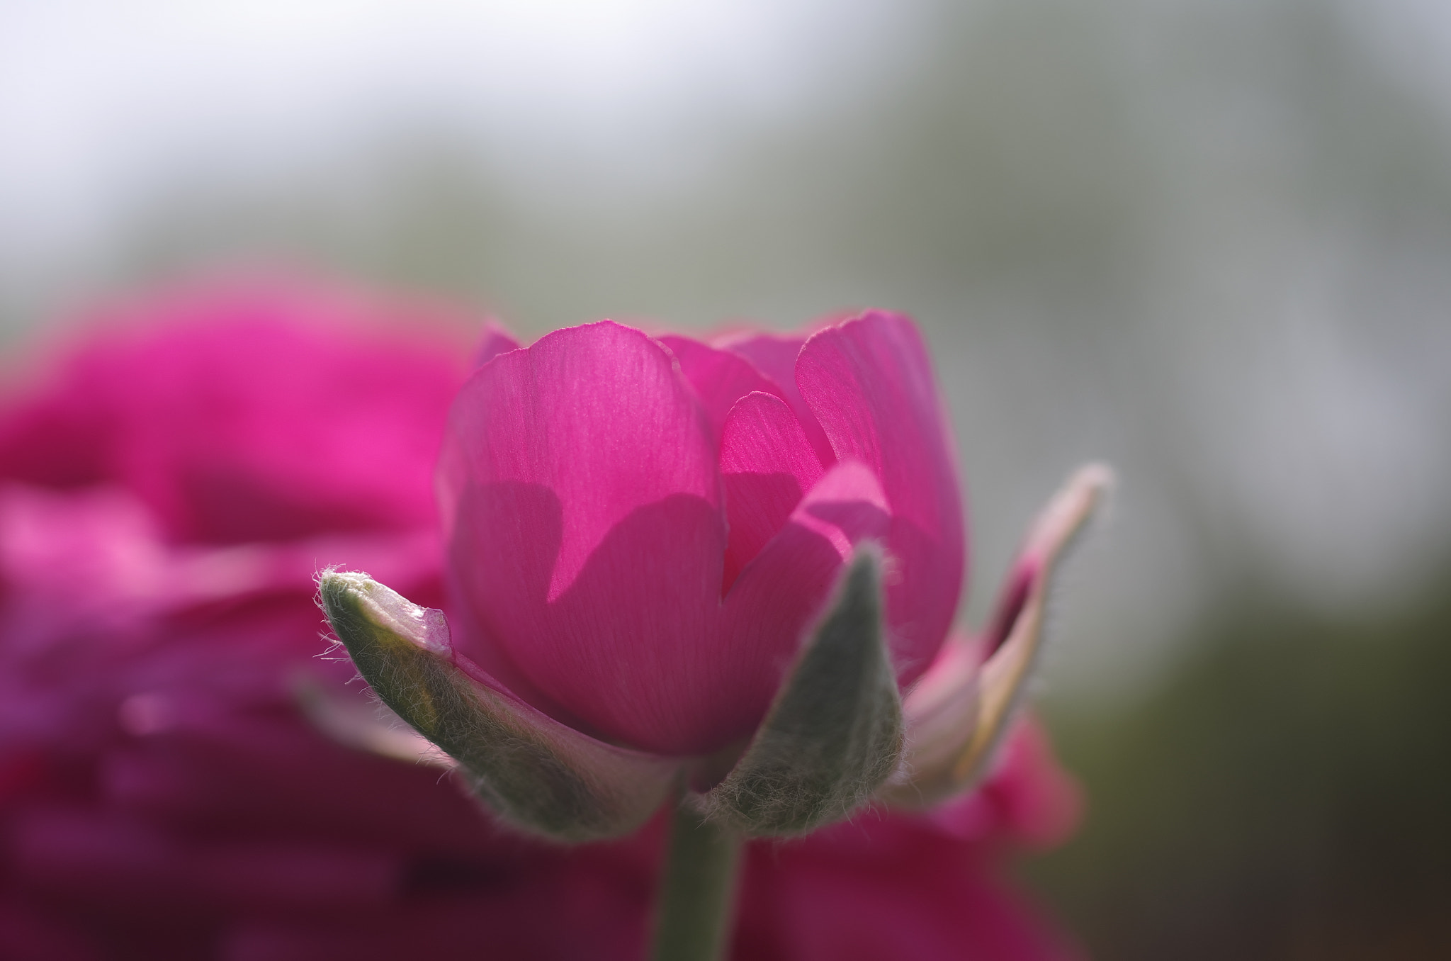
[[[710,643],[726,552],[715,446],[657,343],[602,322],[496,357],[454,404],[438,485],[476,629],[463,653],[511,684],[506,661],[541,707],[567,704],[607,739],[710,740],[731,688]]]

